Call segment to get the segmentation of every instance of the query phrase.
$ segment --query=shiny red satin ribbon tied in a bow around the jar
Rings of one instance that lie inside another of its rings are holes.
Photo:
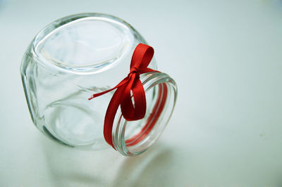
[[[91,98],[89,98],[89,100],[91,100],[92,98],[101,96],[116,89],[106,110],[104,120],[104,138],[113,148],[114,145],[111,133],[119,105],[121,105],[121,113],[125,120],[140,120],[145,117],[146,97],[142,82],[140,81],[140,74],[145,72],[158,72],[147,67],[153,56],[154,49],[151,46],[138,44],[131,58],[130,73],[128,74],[128,77],[125,77],[125,79],[123,79],[118,85],[114,86],[114,88],[101,93],[95,93]],[[131,91],[133,93],[132,96],[134,98],[134,105],[131,99]]]

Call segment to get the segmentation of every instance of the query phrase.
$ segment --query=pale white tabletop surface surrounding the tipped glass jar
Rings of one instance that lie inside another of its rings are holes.
[[[32,124],[20,60],[57,18],[130,22],[178,83],[173,117],[136,157],[60,146]],[[282,186],[282,1],[1,1],[0,186]]]

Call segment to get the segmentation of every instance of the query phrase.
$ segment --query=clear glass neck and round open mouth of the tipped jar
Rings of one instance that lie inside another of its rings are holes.
[[[147,100],[145,117],[128,122],[118,109],[112,131],[114,148],[125,156],[139,155],[157,141],[176,103],[176,82],[165,73],[149,72],[140,75],[140,80]]]

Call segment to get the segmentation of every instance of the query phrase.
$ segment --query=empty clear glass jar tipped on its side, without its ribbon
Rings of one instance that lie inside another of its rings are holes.
[[[111,89],[128,73],[137,44],[145,39],[127,22],[112,15],[82,13],[61,18],[40,31],[28,47],[20,72],[35,126],[63,145],[109,148],[103,137]],[[149,67],[157,70],[154,58]],[[138,155],[157,140],[176,102],[176,82],[162,72],[140,75],[147,110],[142,120],[126,121],[118,108],[114,119],[114,148]]]

